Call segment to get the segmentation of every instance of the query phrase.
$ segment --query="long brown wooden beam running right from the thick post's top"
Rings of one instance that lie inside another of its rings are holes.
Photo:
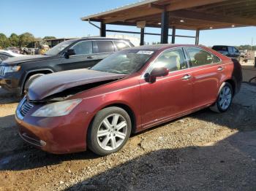
[[[244,26],[256,26],[256,20],[241,17],[229,17],[224,15],[211,15],[204,12],[178,10],[169,13],[170,17],[188,18],[193,20],[208,20],[216,23],[230,23]]]

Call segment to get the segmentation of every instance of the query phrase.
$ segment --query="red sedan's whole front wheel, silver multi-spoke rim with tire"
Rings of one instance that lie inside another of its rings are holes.
[[[129,139],[132,122],[124,109],[113,106],[102,109],[94,117],[87,134],[87,144],[97,155],[117,152]]]

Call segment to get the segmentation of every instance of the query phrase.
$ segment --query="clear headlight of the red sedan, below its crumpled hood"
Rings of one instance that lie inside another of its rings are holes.
[[[37,109],[31,114],[33,117],[58,117],[69,114],[82,99],[73,99],[67,101],[59,101],[53,104],[48,104]]]

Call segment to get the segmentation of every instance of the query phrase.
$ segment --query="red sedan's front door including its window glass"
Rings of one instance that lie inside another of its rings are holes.
[[[154,83],[140,79],[144,128],[187,112],[192,106],[191,73],[184,51],[178,48],[162,52],[146,73],[155,67],[165,67],[170,73],[166,77],[157,78]]]

